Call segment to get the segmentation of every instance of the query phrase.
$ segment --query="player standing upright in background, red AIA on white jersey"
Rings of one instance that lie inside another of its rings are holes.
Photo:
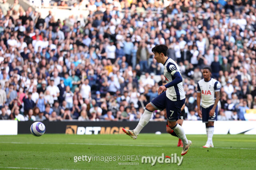
[[[202,117],[203,123],[206,126],[207,142],[204,148],[214,147],[212,136],[214,132],[214,121],[217,120],[218,107],[220,100],[220,83],[211,78],[212,69],[210,67],[203,68],[204,78],[197,84],[197,109],[198,115]],[[200,102],[202,97],[202,111],[200,110]]]

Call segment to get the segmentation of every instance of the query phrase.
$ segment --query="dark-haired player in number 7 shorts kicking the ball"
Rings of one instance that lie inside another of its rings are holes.
[[[166,109],[168,126],[174,130],[179,139],[182,140],[183,147],[181,155],[184,155],[188,152],[192,144],[192,142],[186,138],[183,128],[177,123],[180,117],[181,107],[185,103],[185,93],[182,86],[180,68],[175,61],[167,57],[167,49],[168,47],[166,45],[156,45],[152,48],[154,59],[164,65],[164,77],[167,84],[160,86],[158,89],[159,96],[146,105],[146,109],[137,127],[134,130],[124,128],[122,130],[133,139],[137,139],[142,128],[148,124],[152,112]]]

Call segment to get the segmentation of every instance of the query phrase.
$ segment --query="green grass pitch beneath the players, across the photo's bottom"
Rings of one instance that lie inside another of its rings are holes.
[[[152,166],[141,163],[142,156],[181,156],[182,149],[176,146],[178,138],[169,134],[140,134],[136,140],[127,135],[0,136],[0,169],[255,169],[256,135],[214,135],[214,148],[209,149],[202,148],[206,135],[187,137],[192,146],[180,166],[157,162]],[[82,155],[116,156],[116,161],[75,163],[74,156]],[[139,160],[121,161],[118,156],[138,156]]]

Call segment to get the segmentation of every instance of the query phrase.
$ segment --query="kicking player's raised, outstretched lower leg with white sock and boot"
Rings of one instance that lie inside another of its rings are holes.
[[[147,104],[144,113],[140,117],[140,121],[139,121],[137,127],[134,130],[128,130],[128,129],[123,128],[122,130],[124,131],[124,133],[126,133],[126,135],[129,135],[130,137],[132,137],[132,139],[137,139],[140,131],[143,129],[144,126],[146,126],[146,124],[148,124],[150,117],[151,117],[153,111],[155,111],[155,110],[156,110],[156,108],[154,108],[150,103]]]

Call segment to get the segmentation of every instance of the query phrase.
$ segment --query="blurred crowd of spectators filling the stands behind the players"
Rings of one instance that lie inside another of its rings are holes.
[[[0,119],[138,120],[165,82],[156,44],[180,66],[188,120],[200,119],[204,66],[222,85],[218,119],[245,120],[246,109],[256,109],[255,0],[85,4],[87,18],[64,21],[0,4]],[[164,111],[152,114],[164,119]]]

